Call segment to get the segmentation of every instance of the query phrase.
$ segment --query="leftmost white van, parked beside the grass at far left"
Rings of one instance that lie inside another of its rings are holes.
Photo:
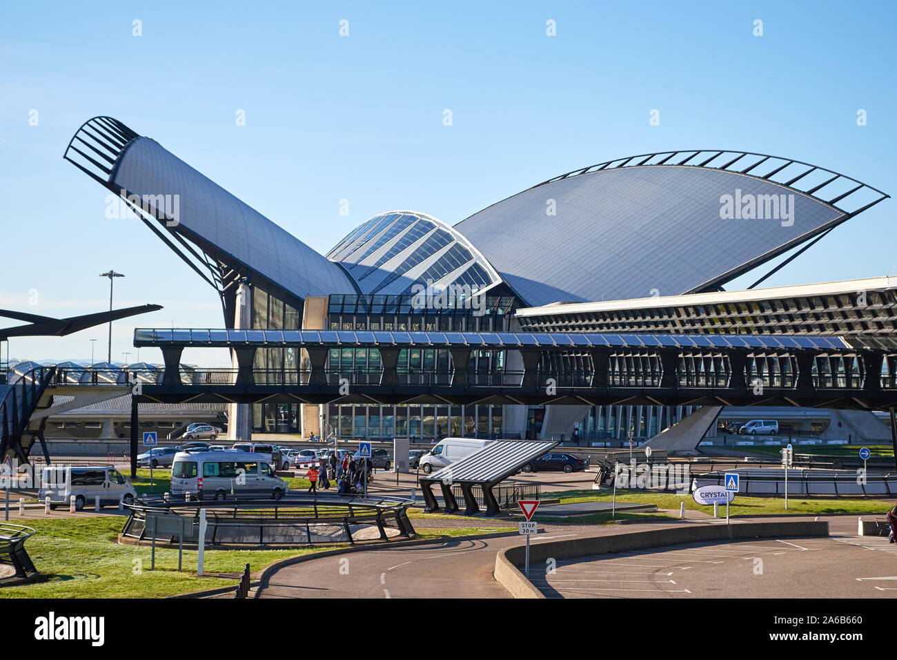
[[[118,506],[120,499],[125,504],[134,502],[137,492],[131,482],[111,465],[74,468],[48,467],[40,475],[38,499],[46,501],[50,497],[50,508],[67,506],[69,497],[74,496],[74,508],[81,511],[85,505],[93,505],[94,497],[100,497],[100,506]]]

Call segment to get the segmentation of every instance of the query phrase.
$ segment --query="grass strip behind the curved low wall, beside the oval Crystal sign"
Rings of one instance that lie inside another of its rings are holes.
[[[610,502],[614,497],[609,490],[565,490],[544,493],[544,497],[560,497],[561,504],[575,502]],[[712,506],[702,506],[690,495],[651,493],[644,490],[617,490],[617,502],[656,504],[661,509],[678,509],[682,502],[686,509],[713,514]],[[789,496],[788,509],[784,497],[738,497],[729,505],[729,515],[782,515],[782,514],[875,514],[886,515],[893,502],[849,497],[801,497]],[[725,512],[726,506],[719,507]],[[570,518],[564,520],[570,521]]]

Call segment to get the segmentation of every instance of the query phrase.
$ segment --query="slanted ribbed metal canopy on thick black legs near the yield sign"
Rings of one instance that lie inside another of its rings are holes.
[[[453,462],[430,477],[420,478],[423,499],[427,505],[424,511],[431,512],[439,508],[431,490],[434,484],[439,483],[445,499],[445,513],[456,512],[457,500],[451,492],[451,486],[457,483],[464,494],[465,515],[474,515],[480,510],[472,490],[474,486],[483,489],[486,515],[496,515],[499,513],[499,505],[492,495],[492,487],[506,480],[528,462],[550,452],[558,444],[560,443],[556,440],[495,440],[486,444],[483,449]]]

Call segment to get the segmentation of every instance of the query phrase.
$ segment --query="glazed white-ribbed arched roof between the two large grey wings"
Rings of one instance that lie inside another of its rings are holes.
[[[364,294],[408,294],[415,284],[483,292],[501,282],[463,235],[417,211],[372,217],[327,252],[327,259],[340,263]]]

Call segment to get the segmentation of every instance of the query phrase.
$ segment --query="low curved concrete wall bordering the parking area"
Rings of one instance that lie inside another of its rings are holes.
[[[532,566],[545,559],[571,559],[613,552],[644,550],[661,545],[679,545],[695,541],[723,541],[727,539],[761,539],[769,537],[828,536],[826,521],[786,521],[779,523],[739,523],[739,524],[687,524],[660,530],[642,532],[621,532],[602,536],[587,536],[566,541],[533,543],[529,547],[529,561]],[[537,538],[537,537],[536,537]],[[495,556],[495,579],[514,598],[544,598],[520,571],[525,561],[525,546],[499,550]]]

